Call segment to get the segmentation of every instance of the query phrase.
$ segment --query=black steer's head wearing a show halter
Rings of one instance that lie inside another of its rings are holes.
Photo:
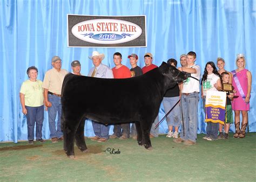
[[[180,83],[183,80],[187,79],[186,74],[179,71],[174,66],[167,64],[166,62],[162,62],[161,66],[159,67],[161,73],[169,80],[169,83]]]

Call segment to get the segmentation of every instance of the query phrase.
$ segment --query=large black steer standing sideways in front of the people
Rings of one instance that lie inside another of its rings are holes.
[[[138,144],[151,147],[150,129],[168,88],[185,74],[163,62],[144,75],[129,79],[102,79],[68,74],[62,86],[64,150],[73,158],[74,141],[87,152],[85,118],[103,124],[135,122]]]

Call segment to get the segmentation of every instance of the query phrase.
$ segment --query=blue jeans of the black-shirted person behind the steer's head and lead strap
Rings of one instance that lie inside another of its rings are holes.
[[[177,97],[164,97],[163,99],[163,105],[164,105],[164,111],[165,114],[169,112],[169,110],[179,101],[179,96]],[[174,126],[179,127],[180,125],[180,107],[179,104],[177,104],[169,113],[169,115],[166,116],[166,122],[168,126]]]

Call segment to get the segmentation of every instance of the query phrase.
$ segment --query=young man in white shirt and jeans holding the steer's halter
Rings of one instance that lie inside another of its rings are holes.
[[[191,74],[186,81],[183,81],[183,90],[181,91],[184,122],[181,123],[180,138],[173,139],[173,142],[184,142],[185,145],[194,145],[197,139],[200,67],[194,64],[196,58],[195,52],[188,52],[187,67],[178,68],[180,71]]]

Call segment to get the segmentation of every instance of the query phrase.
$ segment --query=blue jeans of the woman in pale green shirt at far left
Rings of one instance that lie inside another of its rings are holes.
[[[26,114],[26,123],[28,124],[28,140],[34,139],[34,128],[36,122],[36,139],[42,138],[42,128],[44,121],[44,105],[39,107],[25,106],[28,114]]]

